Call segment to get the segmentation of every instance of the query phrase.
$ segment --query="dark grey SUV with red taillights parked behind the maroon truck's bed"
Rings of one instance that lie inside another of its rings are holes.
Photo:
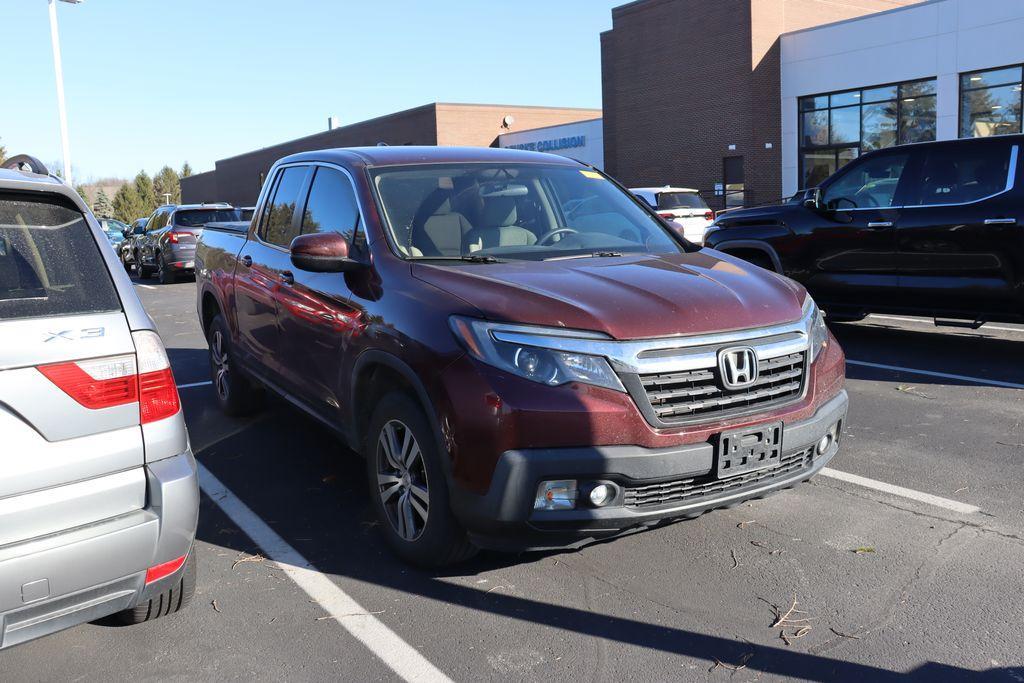
[[[156,273],[161,284],[173,283],[196,267],[196,241],[213,221],[238,220],[229,204],[167,205],[157,209],[135,238],[133,249],[140,278]]]

